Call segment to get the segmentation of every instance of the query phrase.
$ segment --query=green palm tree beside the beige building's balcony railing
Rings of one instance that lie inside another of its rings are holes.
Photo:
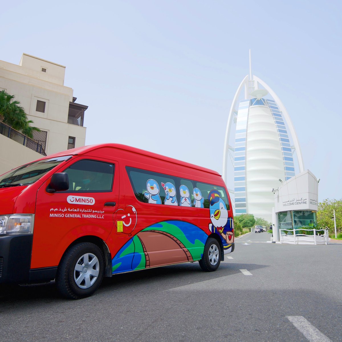
[[[27,119],[27,115],[19,101],[14,101],[14,95],[0,91],[0,121],[12,128],[22,132],[33,139],[33,131],[40,131],[37,127],[32,127],[32,120]]]

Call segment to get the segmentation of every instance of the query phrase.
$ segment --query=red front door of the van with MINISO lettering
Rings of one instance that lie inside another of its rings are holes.
[[[38,190],[31,268],[57,266],[72,242],[84,236],[105,241],[114,225],[117,162],[80,156],[57,172],[68,174],[69,189],[49,192],[48,179]]]

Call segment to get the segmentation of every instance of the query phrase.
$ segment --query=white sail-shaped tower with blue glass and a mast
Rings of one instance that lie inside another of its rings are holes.
[[[223,154],[223,178],[234,167],[235,214],[272,221],[273,189],[304,171],[298,138],[277,94],[250,72],[240,83],[229,111]],[[296,157],[297,158],[294,158]],[[298,165],[297,165],[298,163]],[[233,165],[232,165],[233,164]]]

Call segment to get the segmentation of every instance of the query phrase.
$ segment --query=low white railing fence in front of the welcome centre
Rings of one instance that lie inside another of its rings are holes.
[[[313,235],[296,233],[297,230],[313,231]],[[280,243],[293,244],[329,244],[329,234],[327,229],[279,229]]]

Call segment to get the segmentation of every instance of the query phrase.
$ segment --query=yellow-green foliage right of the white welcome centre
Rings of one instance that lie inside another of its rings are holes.
[[[342,231],[342,199],[326,199],[323,202],[318,203],[317,226],[320,228],[328,227],[329,232],[334,233],[334,210],[336,217],[336,230],[337,232]]]

